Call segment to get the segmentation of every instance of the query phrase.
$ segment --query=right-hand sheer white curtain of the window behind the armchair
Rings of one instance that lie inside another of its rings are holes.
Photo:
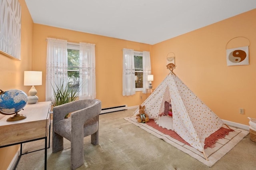
[[[95,44],[80,42],[79,100],[96,98]]]

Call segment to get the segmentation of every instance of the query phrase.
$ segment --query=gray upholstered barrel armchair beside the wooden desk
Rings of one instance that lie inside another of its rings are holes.
[[[63,150],[63,137],[71,142],[71,168],[84,164],[84,137],[91,135],[91,143],[99,142],[99,114],[101,101],[86,99],[53,108],[52,152]],[[70,118],[64,119],[70,114]]]

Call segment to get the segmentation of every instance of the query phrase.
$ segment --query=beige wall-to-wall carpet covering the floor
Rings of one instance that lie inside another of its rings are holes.
[[[78,170],[255,170],[256,143],[249,135],[211,168],[162,139],[124,120],[135,109],[100,115],[100,139],[84,138],[84,165]],[[52,146],[52,145],[51,145]],[[43,148],[44,140],[24,144],[23,151]],[[43,170],[44,150],[22,155],[16,170]],[[64,150],[47,149],[48,170],[70,170],[70,142]]]

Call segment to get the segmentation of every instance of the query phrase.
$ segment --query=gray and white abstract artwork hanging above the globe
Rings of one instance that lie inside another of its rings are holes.
[[[21,6],[18,0],[0,1],[0,53],[20,60]]]

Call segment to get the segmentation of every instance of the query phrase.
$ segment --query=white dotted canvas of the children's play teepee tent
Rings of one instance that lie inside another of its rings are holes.
[[[142,103],[150,119],[164,113],[165,101],[171,101],[174,131],[204,153],[205,138],[222,127],[222,120],[174,74],[169,74]]]

